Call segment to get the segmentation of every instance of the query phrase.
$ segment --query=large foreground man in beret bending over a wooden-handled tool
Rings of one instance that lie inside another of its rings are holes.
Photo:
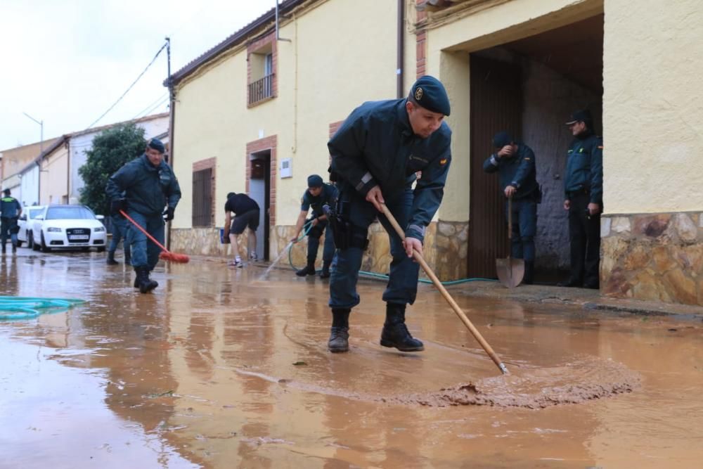
[[[359,279],[369,224],[380,220],[389,234],[390,276],[383,293],[386,320],[380,343],[404,352],[423,350],[405,325],[406,304],[415,302],[425,229],[444,195],[451,162],[451,131],[443,122],[449,98],[434,77],[420,77],[408,98],[363,103],[330,139],[332,170],[340,196],[331,220],[337,265],[330,279],[331,352],[349,349],[349,312],[359,304]],[[415,182],[415,172],[422,177]],[[380,213],[385,203],[405,231],[400,238]]]

